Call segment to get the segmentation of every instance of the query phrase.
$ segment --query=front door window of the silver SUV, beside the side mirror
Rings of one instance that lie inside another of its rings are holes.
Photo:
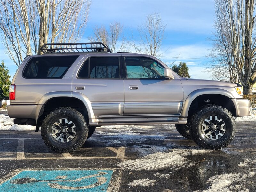
[[[127,78],[164,78],[164,67],[147,57],[125,57]]]

